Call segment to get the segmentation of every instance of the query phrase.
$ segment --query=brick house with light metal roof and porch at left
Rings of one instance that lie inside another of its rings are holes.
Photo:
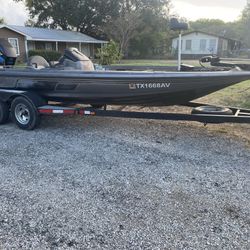
[[[63,52],[67,47],[76,47],[88,57],[94,57],[97,48],[107,43],[74,31],[16,25],[1,25],[0,37],[8,39],[20,61],[27,60],[29,50]]]

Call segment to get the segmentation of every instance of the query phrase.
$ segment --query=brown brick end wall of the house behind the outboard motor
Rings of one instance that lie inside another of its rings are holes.
[[[1,28],[0,29],[0,37],[1,38],[17,38],[18,39],[18,45],[19,45],[19,51],[20,55],[18,56],[17,60],[24,62],[26,61],[26,50],[25,50],[25,37],[19,33],[16,33],[12,30],[9,30],[7,28]]]

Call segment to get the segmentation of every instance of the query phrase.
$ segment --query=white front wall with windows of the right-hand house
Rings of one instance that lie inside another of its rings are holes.
[[[218,53],[219,38],[194,32],[182,36],[182,53],[186,55],[208,55]],[[172,41],[173,52],[178,49],[178,38]]]

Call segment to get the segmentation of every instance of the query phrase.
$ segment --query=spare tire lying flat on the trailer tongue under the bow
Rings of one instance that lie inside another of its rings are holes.
[[[192,114],[196,115],[233,115],[233,111],[225,107],[201,106],[194,108]]]

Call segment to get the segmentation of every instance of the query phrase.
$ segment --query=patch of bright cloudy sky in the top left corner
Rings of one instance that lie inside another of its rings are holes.
[[[3,17],[7,24],[24,25],[28,20],[28,12],[23,3],[15,3],[12,0],[0,0],[0,17]]]

